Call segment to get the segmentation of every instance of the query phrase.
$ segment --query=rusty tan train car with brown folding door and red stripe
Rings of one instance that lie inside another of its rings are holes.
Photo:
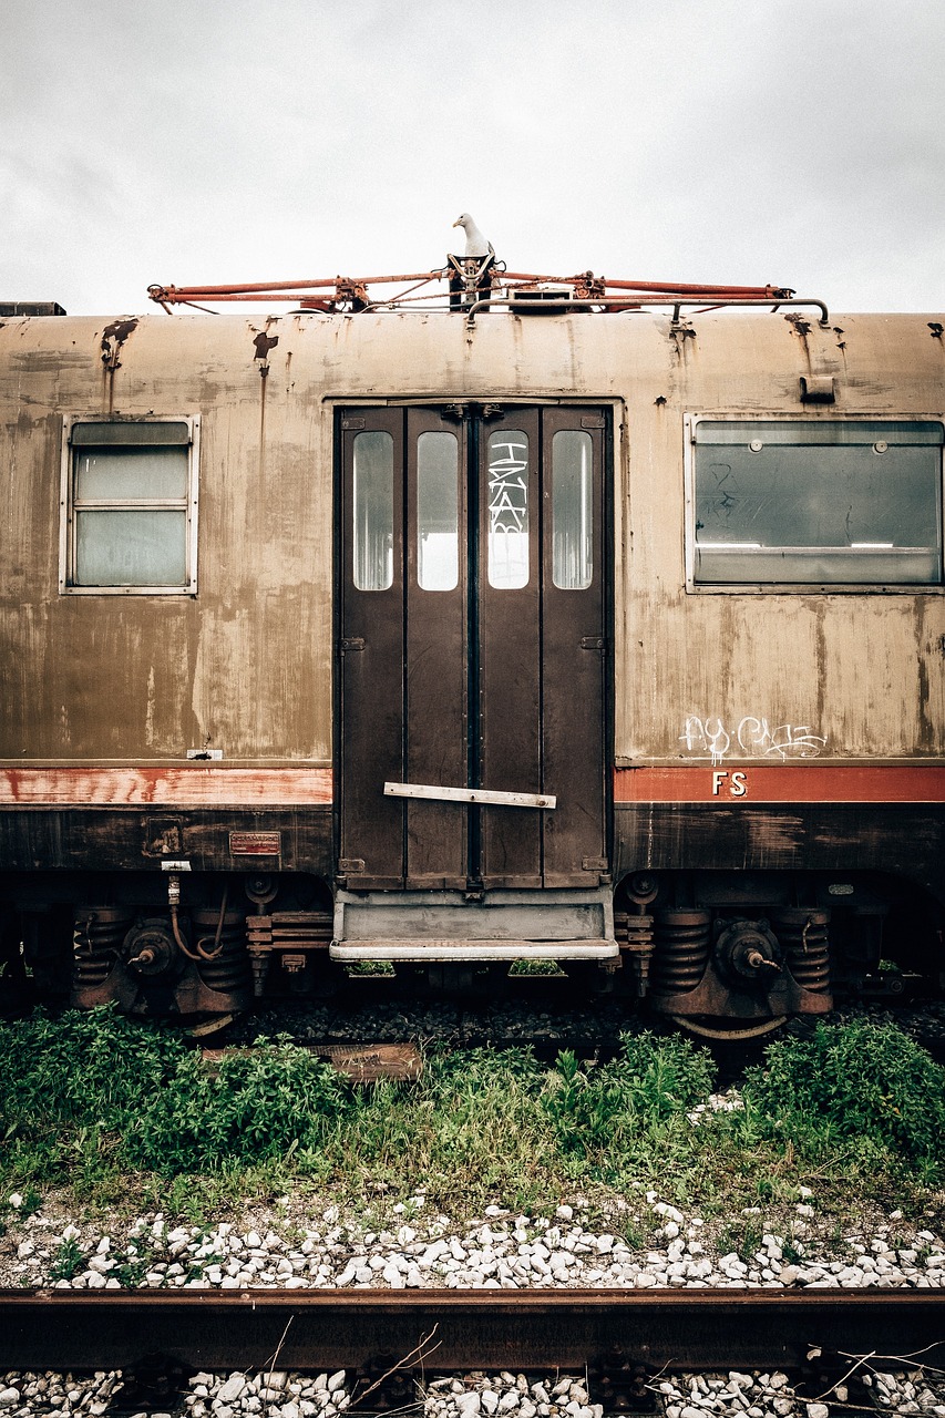
[[[942,325],[481,288],[4,308],[0,990],[941,986]]]

